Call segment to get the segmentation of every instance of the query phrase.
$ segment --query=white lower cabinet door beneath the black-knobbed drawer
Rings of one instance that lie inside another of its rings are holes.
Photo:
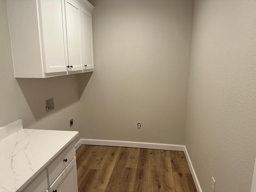
[[[48,189],[50,192],[78,192],[76,157],[73,158]]]

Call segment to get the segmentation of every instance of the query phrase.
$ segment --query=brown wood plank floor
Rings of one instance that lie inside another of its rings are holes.
[[[78,192],[196,192],[184,152],[82,145]]]

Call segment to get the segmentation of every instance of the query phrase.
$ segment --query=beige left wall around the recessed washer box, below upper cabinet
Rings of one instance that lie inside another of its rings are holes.
[[[22,119],[24,128],[79,130],[77,75],[48,79],[14,78],[5,0],[0,0],[0,66],[0,126]],[[46,113],[45,100],[52,97],[55,109]],[[70,128],[72,118],[74,126]]]

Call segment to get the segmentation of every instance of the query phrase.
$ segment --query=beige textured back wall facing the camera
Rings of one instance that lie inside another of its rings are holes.
[[[81,136],[184,144],[193,1],[90,2],[95,72],[79,76]]]

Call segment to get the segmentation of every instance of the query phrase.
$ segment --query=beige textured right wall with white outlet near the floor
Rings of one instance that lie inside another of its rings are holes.
[[[256,155],[256,1],[195,0],[186,147],[203,192],[250,192]]]

